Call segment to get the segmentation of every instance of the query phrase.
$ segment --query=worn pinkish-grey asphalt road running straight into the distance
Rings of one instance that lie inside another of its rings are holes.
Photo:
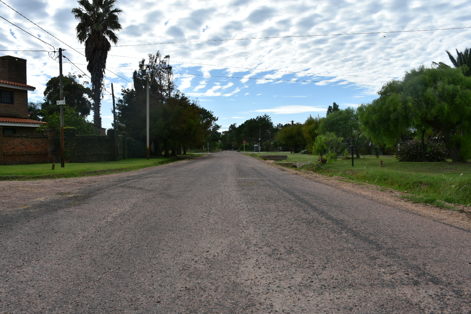
[[[471,233],[236,153],[0,215],[0,313],[471,313]]]

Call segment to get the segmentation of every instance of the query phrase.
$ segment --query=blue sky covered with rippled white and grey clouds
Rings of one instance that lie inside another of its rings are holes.
[[[77,1],[2,1],[83,52],[71,13]],[[211,110],[221,131],[265,113],[274,123],[303,122],[309,115],[325,116],[333,102],[340,108],[370,102],[385,82],[420,64],[450,64],[446,50],[455,54],[455,48],[471,46],[470,28],[387,32],[471,26],[471,1],[120,0],[117,7],[123,29],[108,55],[106,90],[113,83],[120,97],[122,88],[133,87],[139,60],[160,50],[171,56],[179,89]],[[61,47],[75,64],[64,64],[64,74],[89,74],[84,56],[1,2],[0,16],[31,33],[1,20],[0,49]],[[301,34],[316,36],[243,39]],[[213,39],[235,40],[203,41]],[[42,100],[46,82],[59,73],[57,60],[45,51],[0,53],[27,59],[28,84],[36,87],[29,100]],[[105,92],[105,128],[111,127],[111,108]]]

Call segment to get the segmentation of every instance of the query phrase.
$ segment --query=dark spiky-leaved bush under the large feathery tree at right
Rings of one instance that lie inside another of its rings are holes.
[[[396,153],[398,161],[422,161],[422,142],[407,141],[400,145],[400,150]],[[447,153],[443,145],[426,142],[425,143],[425,161],[447,161]]]

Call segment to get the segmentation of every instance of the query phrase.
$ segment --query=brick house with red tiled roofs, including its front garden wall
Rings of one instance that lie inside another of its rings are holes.
[[[26,60],[0,56],[0,165],[53,161],[55,130],[36,132],[45,122],[29,119]],[[56,159],[56,158],[54,158]]]

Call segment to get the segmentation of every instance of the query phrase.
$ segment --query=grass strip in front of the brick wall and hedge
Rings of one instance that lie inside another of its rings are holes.
[[[190,156],[193,154],[188,154]],[[181,155],[185,156],[185,155]],[[174,158],[130,158],[120,161],[97,161],[82,163],[66,163],[64,168],[60,162],[56,163],[56,169],[52,170],[51,163],[36,163],[30,165],[5,165],[0,166],[0,180],[32,180],[54,179],[61,177],[85,177],[97,176],[107,173],[115,173],[129,170],[137,170],[147,167],[159,166],[176,161]]]

